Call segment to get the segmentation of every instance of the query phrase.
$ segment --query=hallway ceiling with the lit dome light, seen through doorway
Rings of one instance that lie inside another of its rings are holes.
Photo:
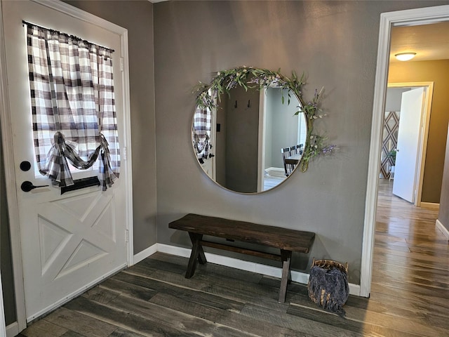
[[[394,54],[416,53],[413,61],[449,59],[449,21],[429,25],[393,27],[391,29],[391,62],[401,62]]]

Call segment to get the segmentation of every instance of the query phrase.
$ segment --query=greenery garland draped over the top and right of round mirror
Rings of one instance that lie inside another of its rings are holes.
[[[327,138],[314,133],[314,121],[315,119],[321,119],[326,116],[322,114],[320,108],[321,98],[324,88],[320,91],[315,90],[314,97],[306,101],[302,97],[302,88],[306,84],[304,73],[300,78],[297,77],[295,72],[292,72],[291,77],[286,77],[281,74],[280,70],[274,72],[272,70],[261,69],[256,67],[236,67],[229,70],[217,72],[213,77],[210,84],[199,84],[194,88],[196,93],[196,107],[201,108],[215,108],[217,103],[214,99],[216,97],[220,99],[220,95],[229,92],[235,86],[242,86],[245,90],[248,88],[268,88],[274,86],[282,89],[282,103],[285,103],[285,97],[283,95],[286,91],[287,103],[290,104],[291,92],[293,92],[300,102],[300,109],[295,113],[299,114],[304,112],[304,117],[307,122],[307,137],[304,144],[304,152],[300,163],[298,164],[300,171],[305,172],[309,168],[309,161],[320,154],[329,154],[335,150],[335,145],[328,145],[326,143]],[[210,95],[209,91],[213,92]]]

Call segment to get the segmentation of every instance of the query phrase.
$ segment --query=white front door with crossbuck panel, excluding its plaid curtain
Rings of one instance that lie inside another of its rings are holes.
[[[128,174],[123,155],[121,178],[105,192],[94,186],[61,194],[59,187],[51,186],[51,181],[34,169],[27,43],[22,20],[114,49],[115,103],[123,149],[126,137],[121,36],[33,1],[2,1],[1,4],[25,311],[29,322],[126,267],[129,203],[123,181]],[[27,161],[31,163],[31,169],[20,169],[20,164]],[[83,173],[74,173],[74,178],[80,178],[79,174]],[[89,176],[96,176],[95,171],[89,173]],[[23,192],[24,181],[36,186],[50,186]]]

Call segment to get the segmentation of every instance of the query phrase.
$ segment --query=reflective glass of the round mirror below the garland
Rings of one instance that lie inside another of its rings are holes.
[[[269,86],[232,88],[217,105],[196,107],[192,141],[201,167],[222,187],[241,193],[270,190],[299,163],[307,123],[295,93]],[[286,164],[288,161],[289,164]]]

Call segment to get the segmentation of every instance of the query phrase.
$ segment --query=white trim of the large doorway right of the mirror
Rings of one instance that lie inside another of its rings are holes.
[[[360,296],[369,297],[373,269],[373,246],[375,234],[375,212],[377,207],[377,180],[380,167],[382,119],[387,91],[389,45],[391,27],[424,25],[449,20],[449,6],[415,8],[406,11],[382,13],[380,15],[379,44],[377,48],[377,70],[373,100],[368,180],[366,187],[365,221],[360,275]]]

